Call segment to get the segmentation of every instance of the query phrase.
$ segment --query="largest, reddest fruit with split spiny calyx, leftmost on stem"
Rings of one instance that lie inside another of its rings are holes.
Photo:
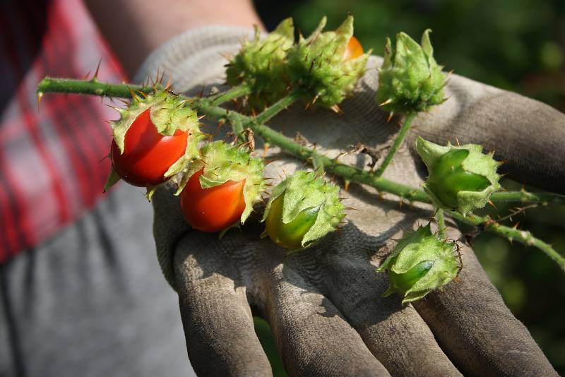
[[[112,173],[106,187],[119,179],[133,186],[153,187],[182,172],[198,157],[203,134],[196,112],[186,100],[167,90],[133,97],[126,109],[117,109],[112,121]]]

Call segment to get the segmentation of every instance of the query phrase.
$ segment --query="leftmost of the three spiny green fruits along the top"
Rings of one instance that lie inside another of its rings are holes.
[[[263,40],[255,28],[253,40],[243,42],[239,53],[227,64],[227,84],[249,85],[252,94],[249,104],[262,110],[267,104],[279,100],[287,88],[287,50],[295,42],[292,18],[287,18]]]

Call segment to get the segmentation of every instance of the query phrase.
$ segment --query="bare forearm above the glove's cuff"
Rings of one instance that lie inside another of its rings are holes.
[[[260,25],[251,0],[85,0],[129,77],[161,44],[204,25]]]

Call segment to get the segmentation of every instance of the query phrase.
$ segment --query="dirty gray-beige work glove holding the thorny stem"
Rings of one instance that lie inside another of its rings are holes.
[[[177,90],[222,82],[221,52],[237,51],[242,30],[188,32],[155,52],[140,76],[167,69],[180,78]],[[198,52],[198,54],[195,54]],[[204,57],[203,57],[204,56]],[[208,56],[208,58],[206,58]],[[370,67],[380,64],[369,61]],[[195,64],[204,64],[198,66]],[[204,73],[203,73],[204,72]],[[193,76],[196,75],[196,76]],[[295,104],[270,122],[287,136],[302,133],[334,157],[358,141],[378,148],[398,131],[374,102],[376,69],[340,105],[343,115]],[[191,82],[191,79],[194,80]],[[452,76],[449,100],[420,114],[412,135],[385,176],[420,186],[425,175],[410,151],[415,135],[438,143],[481,143],[506,160],[513,179],[564,192],[565,116],[545,104]],[[258,143],[261,149],[261,143]],[[268,150],[266,176],[303,169],[304,162],[278,148]],[[367,158],[341,162],[363,167]],[[504,305],[472,250],[463,246],[459,282],[425,299],[401,305],[381,297],[388,278],[375,273],[402,229],[425,224],[428,205],[400,207],[394,196],[352,184],[342,190],[356,208],[347,224],[318,245],[285,256],[263,224],[251,218],[242,231],[218,234],[189,229],[179,200],[165,189],[153,199],[155,241],[165,277],[179,294],[189,358],[201,375],[268,376],[270,366],[254,333],[251,312],[266,318],[287,371],[294,376],[554,376],[557,373],[528,330]],[[450,238],[460,234],[451,227]]]

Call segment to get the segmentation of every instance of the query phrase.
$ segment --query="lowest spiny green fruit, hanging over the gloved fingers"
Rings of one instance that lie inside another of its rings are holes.
[[[383,297],[403,294],[403,304],[422,299],[448,282],[460,269],[455,242],[441,241],[429,225],[407,232],[376,270],[386,270],[389,286]]]

